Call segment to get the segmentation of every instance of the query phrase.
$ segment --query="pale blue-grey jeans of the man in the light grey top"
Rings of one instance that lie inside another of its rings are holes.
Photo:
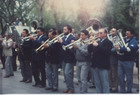
[[[89,71],[88,62],[77,62],[76,63],[76,72],[79,82],[80,93],[87,93],[88,83],[87,76]]]

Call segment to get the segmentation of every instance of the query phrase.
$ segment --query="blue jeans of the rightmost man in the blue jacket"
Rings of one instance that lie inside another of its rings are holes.
[[[120,85],[120,92],[126,92],[125,90],[125,81],[126,77],[127,82],[127,92],[132,91],[133,86],[133,67],[134,61],[118,61],[118,78]]]

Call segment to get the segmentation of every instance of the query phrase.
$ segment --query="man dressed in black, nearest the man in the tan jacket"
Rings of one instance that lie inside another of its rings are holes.
[[[31,47],[32,41],[29,39],[24,39],[29,34],[27,29],[23,29],[22,31],[22,43],[18,44],[19,49],[19,56],[20,56],[20,67],[21,67],[21,74],[23,79],[20,82],[30,83],[32,82],[32,70],[31,70]]]

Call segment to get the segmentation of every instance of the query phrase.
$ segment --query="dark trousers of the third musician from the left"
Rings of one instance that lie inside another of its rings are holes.
[[[45,61],[32,61],[32,73],[34,76],[35,84],[46,86]]]

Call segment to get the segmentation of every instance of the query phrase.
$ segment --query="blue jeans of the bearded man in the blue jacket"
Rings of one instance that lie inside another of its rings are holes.
[[[63,63],[64,78],[66,81],[66,86],[68,89],[74,91],[74,64],[73,63]]]

